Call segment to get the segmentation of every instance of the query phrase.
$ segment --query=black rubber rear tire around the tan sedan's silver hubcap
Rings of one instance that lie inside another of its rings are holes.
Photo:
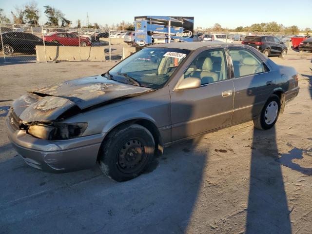
[[[268,120],[266,120],[266,112],[267,112],[267,107],[272,103],[275,102],[277,104],[277,115],[275,117],[275,120],[272,121],[272,123],[267,123]],[[257,128],[257,129],[260,129],[260,130],[267,130],[267,129],[270,129],[274,126],[274,124],[276,123],[277,119],[278,119],[278,116],[279,116],[279,112],[280,112],[280,109],[281,109],[281,101],[280,99],[278,98],[278,96],[276,96],[275,94],[271,95],[270,98],[267,100],[267,102],[265,103],[262,111],[261,111],[261,114],[256,117],[254,119],[254,127]]]

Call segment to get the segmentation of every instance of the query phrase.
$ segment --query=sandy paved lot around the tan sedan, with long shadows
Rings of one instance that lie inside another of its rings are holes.
[[[273,60],[302,74],[298,97],[273,129],[248,122],[171,146],[148,172],[123,183],[98,167],[67,174],[30,168],[0,117],[0,233],[310,234],[312,53]],[[0,116],[27,90],[114,64],[0,66]]]

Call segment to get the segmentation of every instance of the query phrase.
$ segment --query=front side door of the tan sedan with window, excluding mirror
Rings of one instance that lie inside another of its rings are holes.
[[[223,49],[199,53],[181,78],[200,78],[195,89],[171,91],[171,140],[191,137],[230,124],[233,80],[228,78]]]

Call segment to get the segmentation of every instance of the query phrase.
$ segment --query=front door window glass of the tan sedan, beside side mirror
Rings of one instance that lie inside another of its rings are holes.
[[[184,78],[200,78],[201,85],[227,79],[227,64],[225,54],[220,50],[201,52],[184,73]]]

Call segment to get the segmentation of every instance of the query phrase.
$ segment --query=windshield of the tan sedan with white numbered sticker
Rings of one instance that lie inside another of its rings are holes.
[[[145,48],[121,61],[109,71],[108,78],[119,82],[158,89],[174,73],[189,50]]]

